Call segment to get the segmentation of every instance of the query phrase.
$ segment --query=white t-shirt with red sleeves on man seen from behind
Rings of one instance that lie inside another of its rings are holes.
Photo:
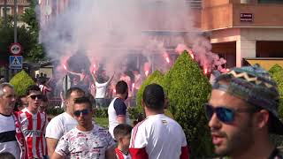
[[[181,126],[172,118],[158,114],[134,126],[129,152],[132,158],[139,151],[149,159],[179,159],[183,148],[187,148],[187,141]]]

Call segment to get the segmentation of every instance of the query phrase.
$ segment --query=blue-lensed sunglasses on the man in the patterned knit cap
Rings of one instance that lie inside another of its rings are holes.
[[[226,107],[213,108],[209,103],[204,104],[204,109],[205,109],[205,115],[208,120],[210,120],[213,114],[216,113],[218,119],[223,123],[233,122],[236,112],[254,113],[257,111],[255,108],[254,109],[253,108],[228,109]]]

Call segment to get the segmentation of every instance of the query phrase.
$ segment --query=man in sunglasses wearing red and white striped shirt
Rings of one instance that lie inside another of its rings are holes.
[[[38,111],[42,102],[41,89],[32,85],[27,87],[27,108],[19,111],[19,122],[27,142],[28,158],[43,158],[47,155],[45,129],[48,125],[46,114]]]

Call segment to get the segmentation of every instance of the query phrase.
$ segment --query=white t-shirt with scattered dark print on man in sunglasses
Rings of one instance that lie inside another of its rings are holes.
[[[104,159],[105,152],[114,148],[111,134],[104,128],[94,125],[90,132],[81,132],[77,128],[66,133],[58,142],[55,152],[67,158]]]

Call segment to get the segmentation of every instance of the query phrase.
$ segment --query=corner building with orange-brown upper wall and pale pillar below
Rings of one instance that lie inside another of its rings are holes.
[[[282,0],[203,0],[202,30],[227,67],[282,64]]]

